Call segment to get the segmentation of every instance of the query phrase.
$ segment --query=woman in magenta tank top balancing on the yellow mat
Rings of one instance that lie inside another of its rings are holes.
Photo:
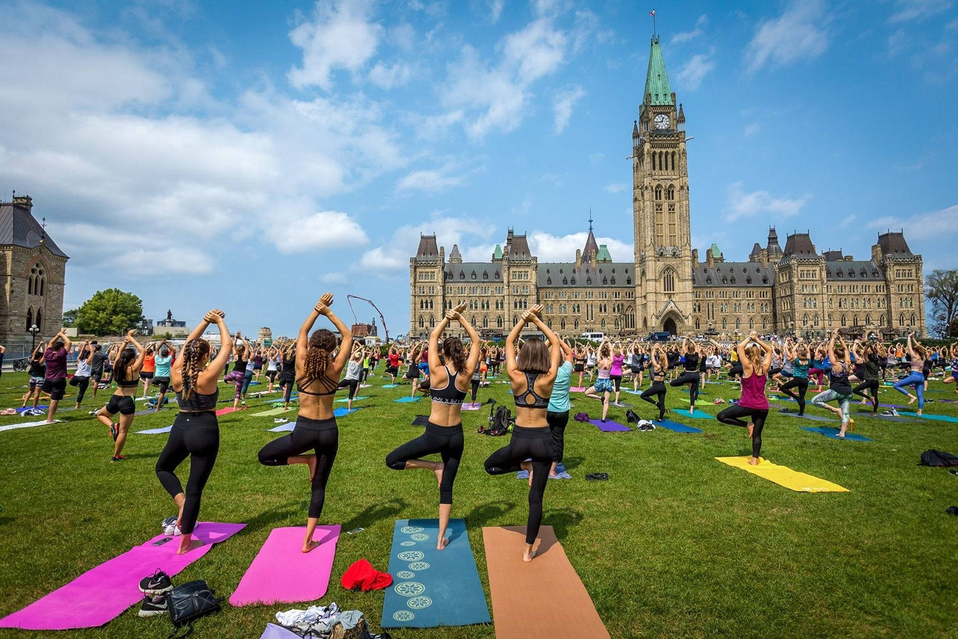
[[[762,430],[768,417],[768,399],[765,397],[765,381],[772,363],[772,347],[765,344],[752,331],[738,346],[741,362],[741,399],[739,403],[721,411],[716,419],[733,426],[744,426],[752,438],[752,457],[748,463],[759,463],[762,451]],[[764,351],[764,353],[763,353]],[[741,418],[747,417],[748,422]]]

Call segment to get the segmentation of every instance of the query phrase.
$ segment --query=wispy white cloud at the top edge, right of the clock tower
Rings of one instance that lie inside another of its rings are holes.
[[[781,16],[759,23],[745,49],[746,69],[754,73],[766,64],[783,67],[821,56],[829,48],[829,21],[822,0],[791,0]]]

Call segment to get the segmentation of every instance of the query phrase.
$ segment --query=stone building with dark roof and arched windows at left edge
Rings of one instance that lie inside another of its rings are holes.
[[[0,202],[0,344],[20,347],[57,333],[63,320],[63,284],[70,258],[33,216],[29,195]]]

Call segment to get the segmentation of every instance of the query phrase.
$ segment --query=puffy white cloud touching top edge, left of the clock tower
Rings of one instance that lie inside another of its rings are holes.
[[[376,54],[382,27],[370,19],[369,0],[317,0],[310,19],[289,33],[303,50],[303,64],[289,70],[289,81],[303,88],[332,88],[336,69],[358,71]]]

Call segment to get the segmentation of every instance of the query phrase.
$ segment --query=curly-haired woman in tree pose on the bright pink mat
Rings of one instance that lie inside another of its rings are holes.
[[[339,428],[332,413],[332,400],[339,387],[339,375],[353,351],[353,332],[330,309],[332,293],[323,293],[309,313],[296,337],[296,386],[300,394],[299,415],[293,431],[273,440],[260,450],[263,466],[306,464],[309,467],[309,511],[303,552],[319,546],[313,539],[319,515],[326,501],[326,484],[330,480],[332,463],[339,448]],[[343,336],[336,350],[336,336],[328,329],[309,335],[309,330],[320,315],[326,315]],[[304,454],[312,450],[313,453]]]

